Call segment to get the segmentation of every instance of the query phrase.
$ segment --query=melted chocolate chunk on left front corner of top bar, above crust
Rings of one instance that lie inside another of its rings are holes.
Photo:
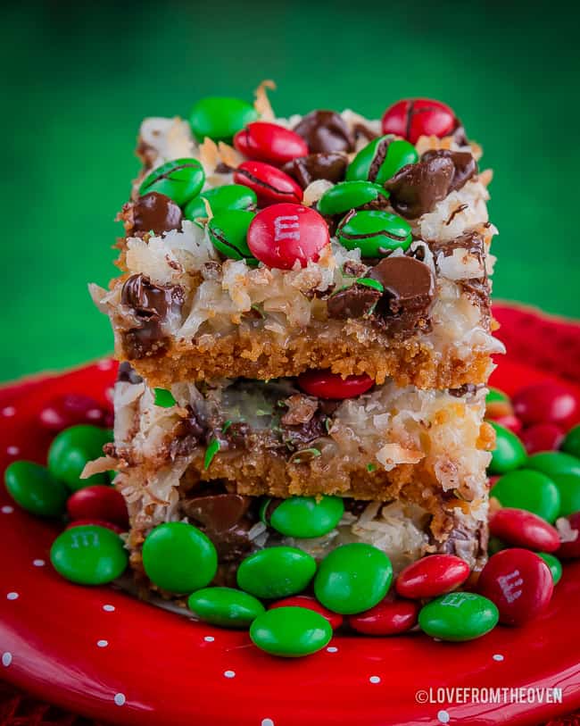
[[[132,309],[138,325],[123,333],[123,345],[129,358],[143,358],[160,353],[167,345],[162,321],[176,316],[184,302],[178,285],[153,285],[145,275],[132,275],[121,290],[121,304]]]

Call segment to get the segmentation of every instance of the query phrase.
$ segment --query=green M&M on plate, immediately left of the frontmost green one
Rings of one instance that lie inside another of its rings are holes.
[[[260,600],[235,588],[203,588],[189,596],[187,606],[200,620],[221,628],[248,628],[264,612]]]

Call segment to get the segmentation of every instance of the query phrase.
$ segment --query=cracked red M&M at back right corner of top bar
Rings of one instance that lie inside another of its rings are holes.
[[[455,113],[440,101],[408,98],[387,108],[383,116],[384,134],[395,134],[416,144],[420,136],[443,138],[458,126]]]

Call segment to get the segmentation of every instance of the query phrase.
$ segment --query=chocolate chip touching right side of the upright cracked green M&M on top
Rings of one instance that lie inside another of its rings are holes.
[[[430,212],[449,194],[454,173],[452,160],[445,156],[403,166],[385,181],[394,211],[410,220]]]

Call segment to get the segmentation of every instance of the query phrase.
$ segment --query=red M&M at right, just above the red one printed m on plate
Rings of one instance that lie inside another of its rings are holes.
[[[493,537],[514,547],[527,547],[538,552],[555,552],[559,547],[558,530],[525,509],[507,506],[499,509],[489,522],[489,531]]]

